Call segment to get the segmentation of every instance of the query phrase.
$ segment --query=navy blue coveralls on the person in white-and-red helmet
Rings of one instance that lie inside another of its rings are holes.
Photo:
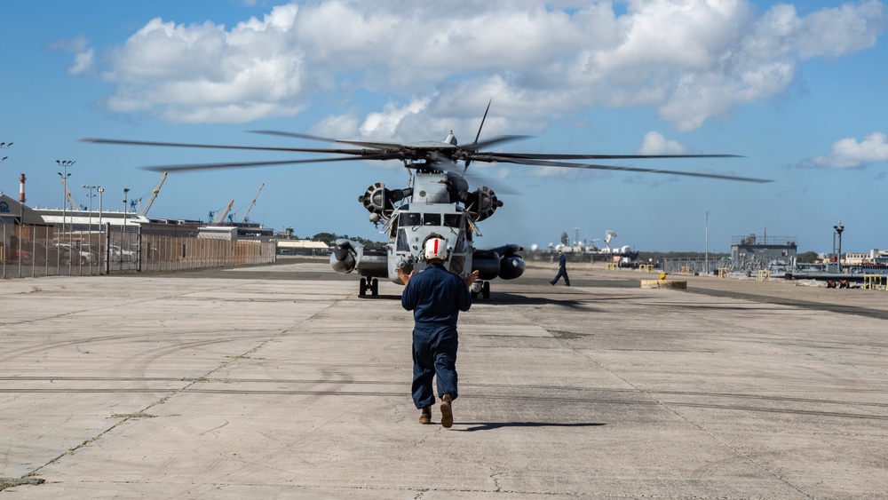
[[[440,264],[414,274],[400,296],[404,309],[413,311],[413,402],[424,409],[435,402],[432,377],[437,375],[438,396],[456,400],[456,319],[472,306],[463,279]]]

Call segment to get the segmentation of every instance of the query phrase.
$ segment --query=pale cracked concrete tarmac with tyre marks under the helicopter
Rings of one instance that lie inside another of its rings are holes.
[[[444,429],[401,287],[288,262],[4,280],[0,496],[888,498],[886,291],[532,267]]]

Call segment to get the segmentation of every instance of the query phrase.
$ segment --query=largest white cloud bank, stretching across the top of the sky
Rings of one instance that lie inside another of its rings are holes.
[[[511,131],[516,119],[533,128],[599,106],[654,107],[688,131],[779,95],[803,60],[873,46],[884,21],[875,0],[806,16],[789,4],[759,14],[748,0],[624,6],[328,0],[230,29],[155,19],[111,51],[105,102],[172,121],[250,121],[295,114],[319,92],[365,89],[408,104],[363,110],[362,133],[417,123],[417,103],[425,127],[468,124],[491,97]]]

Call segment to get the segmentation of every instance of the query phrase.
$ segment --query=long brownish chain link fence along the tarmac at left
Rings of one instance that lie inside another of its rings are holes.
[[[107,224],[92,231],[0,224],[0,278],[269,264],[275,246],[269,241],[142,234]]]

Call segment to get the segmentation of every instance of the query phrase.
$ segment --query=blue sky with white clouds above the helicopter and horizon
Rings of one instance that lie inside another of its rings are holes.
[[[728,252],[734,237],[798,251],[888,249],[888,48],[882,2],[743,0],[11,0],[0,16],[0,191],[57,208],[147,202],[145,166],[308,154],[112,146],[82,138],[331,147],[251,133],[410,143],[527,139],[495,151],[732,154],[611,164],[766,184],[472,163],[503,207],[481,248],[562,232],[641,251]],[[307,237],[384,241],[358,196],[406,187],[399,162],[173,172],[152,218],[232,215]],[[261,193],[259,187],[263,186]],[[86,187],[82,187],[86,186]]]

